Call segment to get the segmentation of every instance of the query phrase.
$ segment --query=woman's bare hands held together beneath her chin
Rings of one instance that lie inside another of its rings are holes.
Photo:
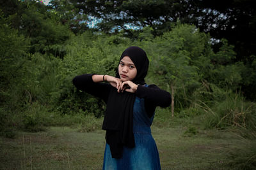
[[[136,90],[138,89],[138,85],[133,83],[132,81],[122,81],[120,78],[116,78],[113,76],[105,76],[106,81],[108,81],[113,87],[117,89],[117,92],[131,92],[135,93]]]

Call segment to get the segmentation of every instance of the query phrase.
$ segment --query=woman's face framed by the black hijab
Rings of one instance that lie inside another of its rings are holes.
[[[125,56],[120,60],[118,73],[122,81],[131,81],[136,77],[137,69],[130,57]]]

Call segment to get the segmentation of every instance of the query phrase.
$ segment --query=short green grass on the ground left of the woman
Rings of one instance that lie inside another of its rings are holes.
[[[0,169],[101,169],[104,131],[19,132],[15,139],[0,138],[0,150]]]

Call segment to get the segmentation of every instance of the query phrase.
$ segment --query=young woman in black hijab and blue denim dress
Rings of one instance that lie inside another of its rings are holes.
[[[103,169],[161,169],[150,125],[156,106],[170,106],[171,96],[145,83],[148,64],[144,50],[131,46],[122,53],[115,77],[83,74],[73,80],[77,89],[107,104]]]

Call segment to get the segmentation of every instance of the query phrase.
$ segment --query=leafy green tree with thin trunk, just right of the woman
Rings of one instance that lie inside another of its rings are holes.
[[[178,24],[154,41],[157,43],[152,50],[151,68],[157,82],[171,92],[172,116],[176,94],[179,94],[178,100],[186,105],[189,94],[201,84],[201,71],[206,71],[204,67],[210,64],[205,59],[209,57],[207,50],[211,51],[211,48],[207,48],[210,46],[207,40],[209,37],[200,33],[195,26]],[[201,60],[204,60],[204,66],[199,64]]]

